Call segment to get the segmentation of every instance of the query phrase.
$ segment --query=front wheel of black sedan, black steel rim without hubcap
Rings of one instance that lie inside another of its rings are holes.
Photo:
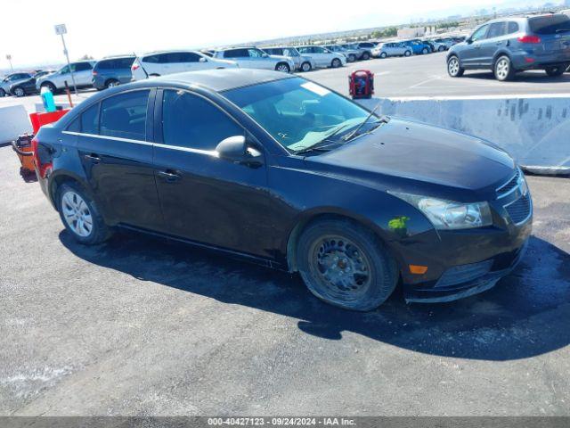
[[[378,308],[398,278],[395,259],[378,237],[348,219],[307,226],[297,243],[297,267],[317,298],[351,310]]]

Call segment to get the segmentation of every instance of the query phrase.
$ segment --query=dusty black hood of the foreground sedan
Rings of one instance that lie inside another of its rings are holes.
[[[508,179],[515,168],[509,154],[491,143],[402,119],[307,161],[352,169],[351,175],[361,171],[472,191]]]

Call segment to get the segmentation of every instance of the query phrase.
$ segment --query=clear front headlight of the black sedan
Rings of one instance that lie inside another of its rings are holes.
[[[419,194],[390,192],[411,203],[431,221],[436,229],[454,230],[490,226],[493,217],[488,202],[452,202]]]

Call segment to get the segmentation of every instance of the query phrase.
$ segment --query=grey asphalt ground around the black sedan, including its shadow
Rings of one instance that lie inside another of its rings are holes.
[[[74,243],[0,148],[0,415],[570,415],[570,180],[483,294],[370,313],[133,233]]]

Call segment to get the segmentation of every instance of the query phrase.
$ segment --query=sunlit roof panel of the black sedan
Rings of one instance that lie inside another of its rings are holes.
[[[185,73],[169,74],[150,80],[149,83],[184,84],[188,86],[201,86],[215,92],[224,92],[237,87],[251,86],[259,83],[295,78],[296,76],[271,70],[254,69],[221,69],[187,71]]]

